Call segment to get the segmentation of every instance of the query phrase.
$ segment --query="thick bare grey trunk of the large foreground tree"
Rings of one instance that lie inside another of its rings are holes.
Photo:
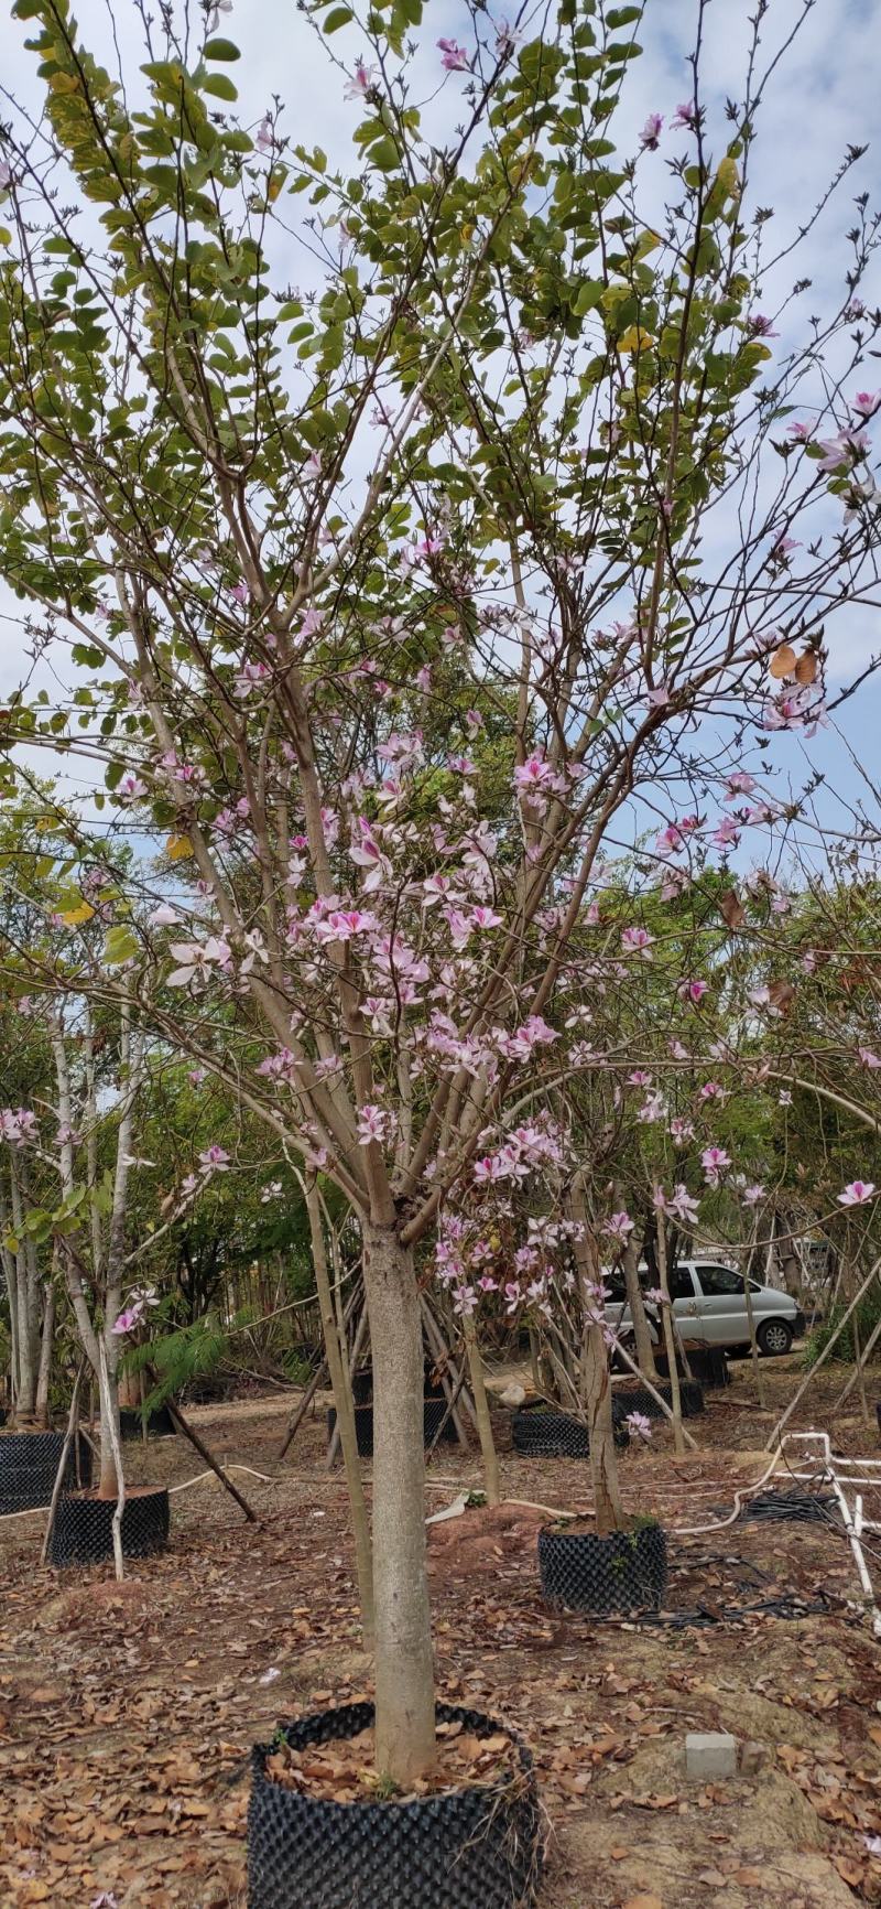
[[[374,1350],[376,1768],[408,1787],[435,1758],[425,1575],[421,1313],[412,1250],[364,1220]]]

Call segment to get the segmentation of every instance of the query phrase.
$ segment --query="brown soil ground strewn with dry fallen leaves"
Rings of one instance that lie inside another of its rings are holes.
[[[765,1369],[772,1399],[793,1390],[786,1367]],[[435,1527],[439,1684],[534,1745],[549,1823],[542,1909],[881,1901],[868,1848],[881,1833],[881,1661],[841,1531],[738,1521],[673,1535],[725,1514],[736,1483],[761,1472],[770,1418],[748,1369],[734,1371],[692,1426],[698,1458],[673,1460],[662,1432],[622,1462],[627,1502],[671,1529],[669,1609],[700,1607],[702,1626],[549,1613],[542,1514],[528,1504]],[[839,1384],[818,1384],[799,1424],[828,1424]],[[214,1481],[181,1491],[168,1554],[122,1586],[107,1569],[40,1569],[38,1516],[0,1525],[4,1909],[90,1909],[95,1898],[244,1909],[250,1745],[280,1718],[370,1688],[343,1483],[324,1470],[322,1415],[278,1466],[288,1407],[273,1397],[193,1413],[219,1457],[273,1474],[240,1478],[259,1525],[244,1525]],[[498,1426],[509,1443],[505,1415]],[[877,1445],[854,1416],[830,1430],[849,1451]],[[200,1470],[183,1439],[128,1451],[133,1479],[179,1483]],[[582,1460],[503,1451],[502,1472],[511,1500],[587,1504]],[[477,1457],[444,1447],[429,1510],[479,1483]],[[772,1609],[742,1609],[761,1604]],[[723,1728],[761,1745],[759,1768],[686,1783],[685,1733]]]

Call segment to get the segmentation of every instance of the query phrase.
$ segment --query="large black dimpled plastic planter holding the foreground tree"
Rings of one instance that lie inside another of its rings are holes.
[[[437,1707],[479,1737],[502,1730],[479,1710]],[[288,1724],[294,1749],[355,1737],[372,1703]],[[511,1735],[511,1731],[505,1731]],[[412,1802],[322,1802],[265,1775],[269,1743],[252,1752],[248,1909],[530,1909],[542,1873],[532,1756],[515,1737],[515,1783]]]

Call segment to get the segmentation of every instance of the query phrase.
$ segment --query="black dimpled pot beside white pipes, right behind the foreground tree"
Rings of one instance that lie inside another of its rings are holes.
[[[538,1569],[549,1604],[568,1611],[658,1609],[667,1584],[667,1535],[660,1525],[612,1531],[540,1531]]]

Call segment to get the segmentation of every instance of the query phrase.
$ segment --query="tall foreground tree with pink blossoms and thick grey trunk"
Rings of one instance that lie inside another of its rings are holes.
[[[78,983],[132,991],[360,1220],[376,1747],[408,1781],[433,1754],[416,1256],[561,1164],[540,1101],[595,1063],[597,962],[614,987],[652,958],[637,899],[614,949],[599,924],[608,834],[648,800],[679,867],[690,785],[723,796],[753,725],[822,718],[830,617],[873,580],[875,229],[774,365],[757,38],[725,128],[698,44],[669,128],[620,155],[637,6],[540,36],[475,8],[437,52],[420,0],[332,10],[355,172],[275,105],[240,124],[217,17],[145,27],[135,109],[65,0],[15,11],[46,116],[2,134],[0,569],[84,682],[71,724],[31,699],[6,737],[97,750],[111,817],[164,842]]]

